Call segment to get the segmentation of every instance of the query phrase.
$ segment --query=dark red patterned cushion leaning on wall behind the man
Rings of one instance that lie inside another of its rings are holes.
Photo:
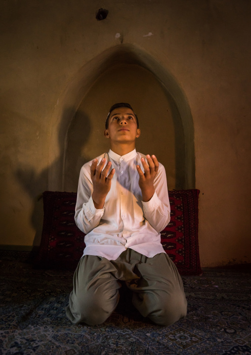
[[[161,242],[182,275],[202,273],[198,245],[199,190],[168,191],[171,220]],[[83,255],[84,233],[74,221],[77,193],[43,193],[43,229],[37,267],[73,270]]]

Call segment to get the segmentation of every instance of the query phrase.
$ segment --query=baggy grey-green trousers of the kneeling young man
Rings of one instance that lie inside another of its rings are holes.
[[[103,323],[118,305],[119,280],[132,291],[134,307],[156,324],[170,325],[186,316],[182,280],[167,254],[147,258],[127,249],[115,261],[93,255],[80,260],[67,317],[72,323]]]

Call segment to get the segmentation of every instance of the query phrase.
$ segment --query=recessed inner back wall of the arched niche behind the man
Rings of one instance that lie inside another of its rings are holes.
[[[105,120],[115,102],[132,105],[141,130],[136,141],[137,151],[155,154],[166,167],[168,188],[175,188],[175,133],[171,105],[151,73],[136,65],[118,65],[95,82],[72,120],[66,148],[64,189],[75,191],[82,165],[109,150],[109,140],[104,137]]]

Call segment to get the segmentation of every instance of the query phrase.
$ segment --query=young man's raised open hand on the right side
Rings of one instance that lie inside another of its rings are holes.
[[[142,201],[144,202],[151,200],[154,195],[155,189],[153,182],[159,170],[159,162],[155,155],[150,157],[148,154],[146,158],[149,166],[147,165],[145,159],[141,158],[141,163],[145,173],[142,172],[139,165],[136,166],[139,175],[138,184],[142,192]]]

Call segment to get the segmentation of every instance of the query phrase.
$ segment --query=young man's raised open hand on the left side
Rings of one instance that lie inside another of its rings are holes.
[[[105,166],[106,159],[103,158],[97,165],[97,159],[94,159],[90,167],[90,177],[93,184],[92,200],[96,209],[104,207],[105,198],[111,188],[112,178],[115,173],[115,169],[112,169],[107,176],[112,163],[108,162]],[[102,169],[104,170],[102,171]]]

